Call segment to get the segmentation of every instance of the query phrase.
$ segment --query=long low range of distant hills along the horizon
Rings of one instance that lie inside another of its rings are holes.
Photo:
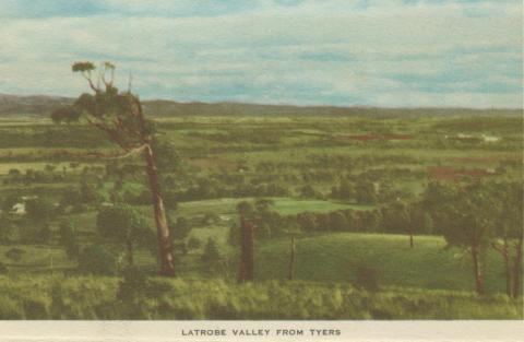
[[[61,106],[69,105],[72,98],[60,96],[20,96],[0,94],[0,116],[49,116]],[[391,116],[391,115],[521,115],[519,109],[468,109],[468,108],[377,108],[377,107],[334,107],[334,106],[290,106],[258,105],[242,103],[179,103],[174,101],[144,101],[147,115],[169,116]]]

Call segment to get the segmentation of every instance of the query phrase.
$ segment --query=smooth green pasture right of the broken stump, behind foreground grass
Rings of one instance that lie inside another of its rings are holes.
[[[296,276],[301,280],[355,280],[358,267],[377,270],[382,285],[474,291],[471,256],[446,248],[442,237],[416,236],[415,247],[407,235],[332,233],[298,237]],[[257,267],[261,280],[283,279],[287,272],[289,240],[261,243]],[[486,291],[503,293],[501,257],[489,251],[486,258]]]

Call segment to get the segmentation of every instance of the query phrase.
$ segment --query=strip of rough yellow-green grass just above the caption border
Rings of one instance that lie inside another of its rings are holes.
[[[148,278],[0,278],[0,319],[522,319],[522,299],[502,295],[346,283]],[[128,288],[128,290],[126,290]]]

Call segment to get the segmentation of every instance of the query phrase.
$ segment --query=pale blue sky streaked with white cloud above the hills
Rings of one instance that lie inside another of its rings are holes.
[[[0,0],[0,93],[76,96],[111,61],[141,98],[523,107],[521,0]]]

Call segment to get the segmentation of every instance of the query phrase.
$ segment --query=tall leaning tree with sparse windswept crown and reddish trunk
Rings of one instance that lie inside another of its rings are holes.
[[[121,158],[143,152],[145,172],[152,193],[154,219],[158,236],[158,252],[163,275],[175,275],[175,266],[169,237],[169,226],[165,213],[162,196],[160,175],[156,153],[154,152],[154,125],[144,116],[142,103],[131,93],[131,84],[127,91],[119,92],[115,86],[115,66],[104,62],[98,68],[90,62],[75,62],[73,72],[79,72],[87,81],[92,93],[81,94],[73,105],[60,108],[52,113],[55,122],[86,122],[99,131],[116,145],[121,148],[117,154],[91,153],[94,157]],[[95,74],[95,71],[97,73]],[[68,152],[66,152],[69,154]],[[83,155],[86,156],[85,154]],[[115,198],[116,200],[116,198]],[[174,204],[170,204],[174,205]],[[120,217],[123,220],[123,217]],[[105,231],[105,229],[103,229]],[[121,237],[127,241],[130,263],[132,262],[133,235],[136,229],[116,229],[127,234]],[[105,231],[106,234],[111,235]]]

